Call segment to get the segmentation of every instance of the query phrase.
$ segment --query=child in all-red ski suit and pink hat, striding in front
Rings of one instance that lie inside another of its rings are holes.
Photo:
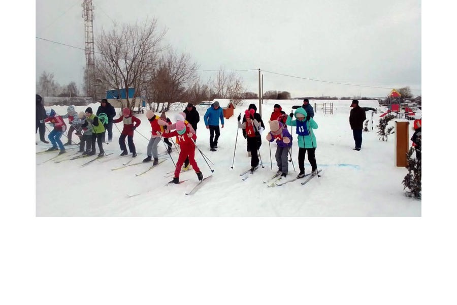
[[[195,144],[193,141],[197,139],[197,135],[190,131],[190,127],[184,124],[184,121],[177,121],[176,130],[161,134],[157,134],[165,138],[176,137],[181,151],[179,153],[178,161],[176,162],[175,176],[173,177],[173,183],[179,184],[179,173],[181,172],[181,166],[186,158],[189,158],[189,163],[192,165],[193,170],[197,174],[199,180],[203,179],[203,174],[200,171],[197,162],[195,162]],[[192,141],[193,140],[193,141]]]

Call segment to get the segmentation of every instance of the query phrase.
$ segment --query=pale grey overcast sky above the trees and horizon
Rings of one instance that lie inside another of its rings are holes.
[[[37,1],[36,36],[84,48],[82,3]],[[202,70],[260,68],[264,92],[384,97],[391,88],[409,86],[414,96],[421,95],[416,90],[421,89],[420,1],[93,0],[93,5],[95,40],[113,20],[155,17],[158,27],[167,29],[164,45],[189,53]],[[47,71],[61,85],[75,81],[82,90],[84,51],[39,38],[37,79]],[[205,81],[216,74],[199,73]],[[256,70],[237,73],[258,93]]]

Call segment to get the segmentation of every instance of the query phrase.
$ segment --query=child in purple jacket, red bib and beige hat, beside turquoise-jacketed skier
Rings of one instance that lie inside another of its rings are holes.
[[[292,147],[292,136],[279,120],[268,121],[268,124],[270,125],[270,132],[267,134],[267,141],[276,140],[278,146],[276,147],[275,158],[278,164],[278,173],[285,177],[288,173],[287,155],[289,148]]]

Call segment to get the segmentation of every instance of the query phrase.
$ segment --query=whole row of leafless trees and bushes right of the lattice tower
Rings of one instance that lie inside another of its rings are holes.
[[[197,74],[199,65],[189,54],[161,45],[165,34],[157,28],[155,18],[102,29],[96,39],[99,54],[95,58],[99,87],[117,89],[119,94],[121,89],[135,88],[133,100],[146,97],[150,106],[154,103],[155,111],[175,102],[198,104],[214,98],[233,99],[237,104],[246,96],[243,80],[234,72],[220,69],[214,80],[202,82]],[[128,97],[126,103],[130,109],[135,106]]]

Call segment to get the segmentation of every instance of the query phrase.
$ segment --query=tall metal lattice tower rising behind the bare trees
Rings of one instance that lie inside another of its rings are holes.
[[[95,55],[93,44],[93,5],[92,0],[83,0],[82,16],[86,34],[84,53],[86,54],[85,85],[87,97],[95,98]]]

